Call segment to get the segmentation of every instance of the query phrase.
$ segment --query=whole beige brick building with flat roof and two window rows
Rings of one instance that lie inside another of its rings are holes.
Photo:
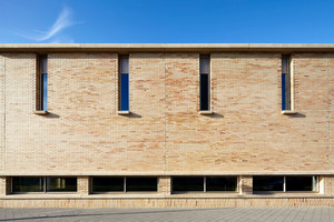
[[[0,44],[0,206],[333,205],[334,44]]]

